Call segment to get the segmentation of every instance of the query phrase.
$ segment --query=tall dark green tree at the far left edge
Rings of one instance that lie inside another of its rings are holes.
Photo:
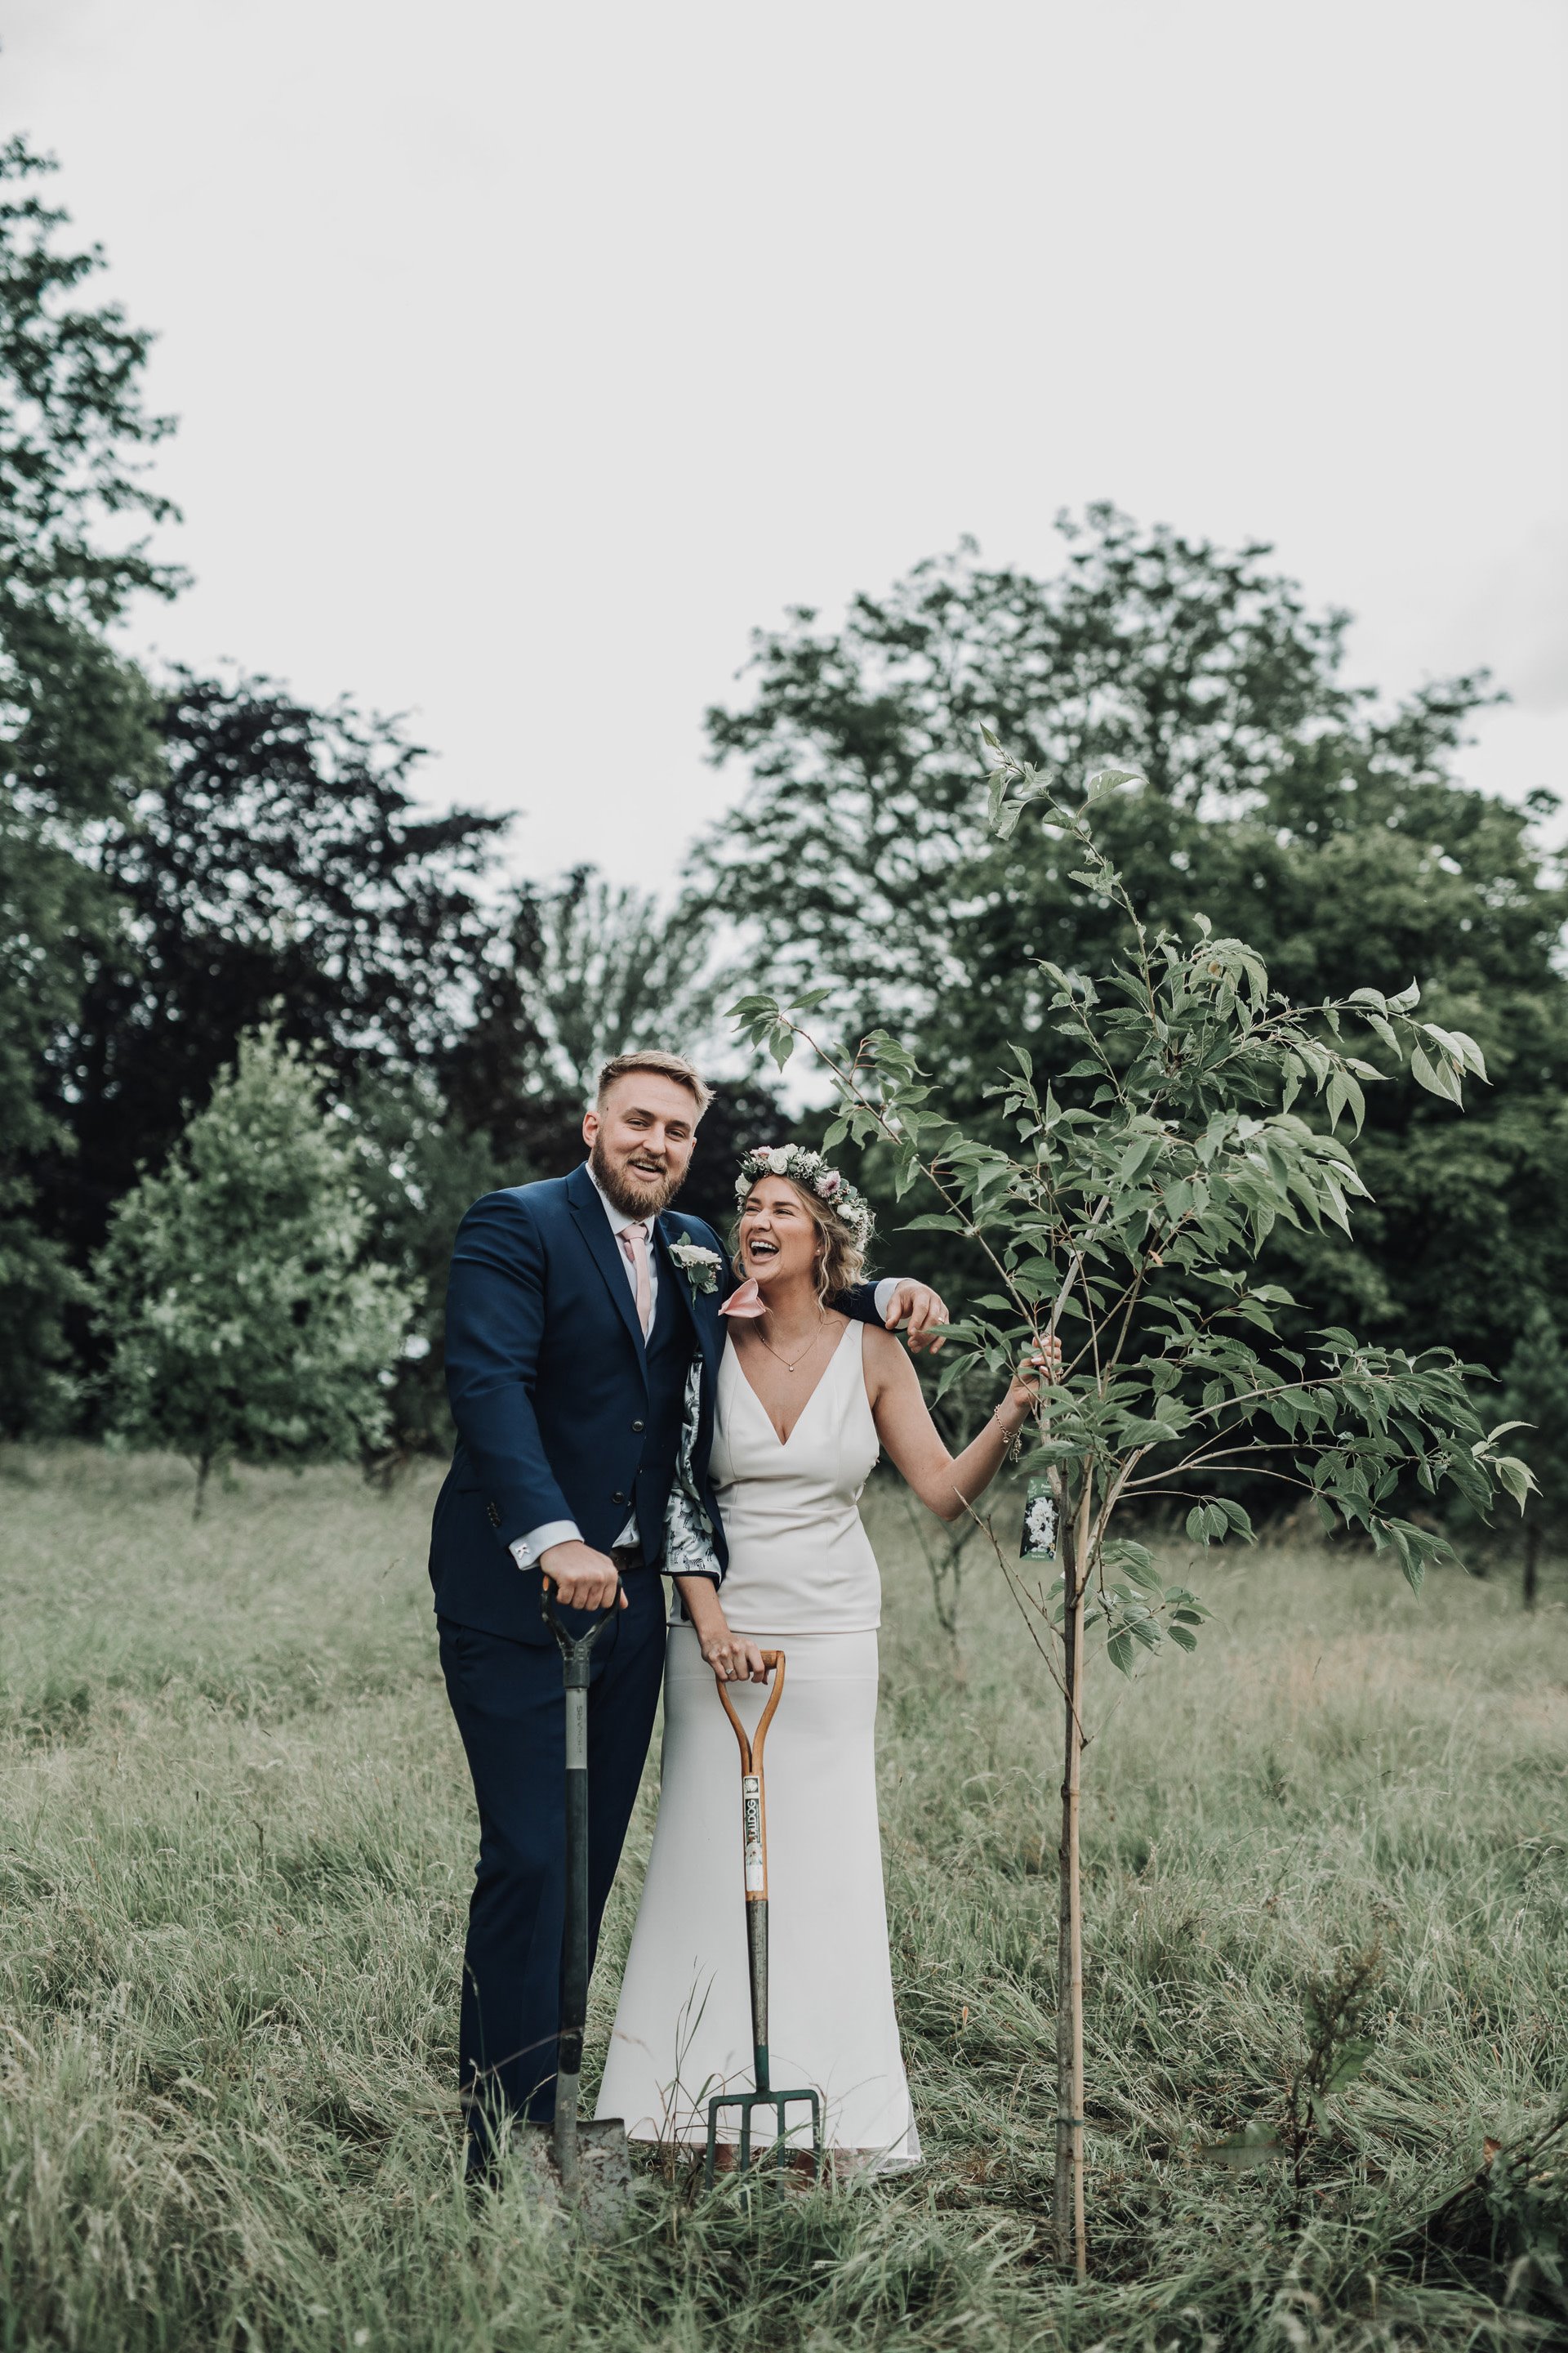
[[[49,169],[21,139],[0,148],[0,1428],[68,1398],[52,1367],[75,1282],[35,1214],[38,1155],[66,1141],[42,1056],[120,932],[75,845],[155,760],[153,701],[103,631],[176,586],[127,534],[172,513],[141,478],[169,431],[141,400],[150,339],[80,301],[101,254],[61,247]]]

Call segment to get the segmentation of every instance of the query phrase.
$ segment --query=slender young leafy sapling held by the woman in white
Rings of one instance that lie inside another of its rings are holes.
[[[1058,1329],[1067,1374],[1039,1405],[1041,1431],[1025,1468],[1044,1473],[1056,1506],[1060,1574],[1011,1572],[1025,1621],[1063,1697],[1058,1847],[1056,2240],[1086,2268],[1084,2228],[1084,1951],[1079,1887],[1079,1779],[1088,1739],[1086,1640],[1100,1628],[1121,1673],[1166,1640],[1197,1642],[1204,1605],[1166,1584],[1152,1553],[1124,1534],[1128,1504],[1190,1504],[1187,1537],[1251,1537],[1234,1497],[1239,1475],[1262,1475],[1316,1504],[1328,1532],[1356,1532],[1392,1553],[1413,1586],[1448,1546],[1401,1515],[1401,1489],[1455,1487],[1486,1513],[1497,1487],[1523,1501],[1530,1473],[1500,1457],[1448,1348],[1366,1346],[1331,1327],[1307,1348],[1286,1344],[1293,1301],[1258,1278],[1274,1226],[1349,1226],[1363,1186],[1333,1132],[1361,1127],[1366,1087],[1385,1073],[1347,1049],[1354,1033],[1408,1064],[1432,1096],[1458,1104],[1465,1073],[1486,1075],[1474,1040],[1413,1014],[1418,991],[1385,998],[1354,988],[1295,1007],[1269,986],[1262,958],[1218,939],[1152,932],[1100,840],[1100,812],[1143,788],[1126,769],[1091,776],[1070,802],[1032,767],[1001,760],[990,779],[990,824],[1009,845],[1020,816],[1041,831],[1067,873],[1107,911],[1114,962],[1100,979],[1044,960],[1044,1026],[1056,1080],[1037,1078],[1018,1040],[992,1094],[1009,1148],[971,1134],[933,1104],[936,1089],[900,1040],[867,1035],[856,1052],[818,1047],[835,1080],[844,1136],[879,1141],[898,1191],[917,1176],[940,1200],[919,1226],[952,1235],[990,1289],[959,1327],[943,1386],[983,1360],[992,1379]],[[1020,861],[1023,864],[1023,861]],[[745,1033],[783,1064],[809,1012],[743,998]],[[1319,1096],[1328,1134],[1295,1113]],[[973,1297],[973,1285],[966,1287]],[[1037,1581],[1039,1579],[1039,1581]]]

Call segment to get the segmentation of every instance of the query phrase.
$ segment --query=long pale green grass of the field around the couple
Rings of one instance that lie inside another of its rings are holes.
[[[193,1525],[179,1464],[0,1459],[2,2348],[1568,2341],[1552,2160],[1490,2224],[1418,2231],[1566,2097],[1552,1579],[1526,1619],[1512,1581],[1418,1602],[1363,1558],[1208,1555],[1199,1657],[1100,1675],[1079,2294],[1048,2259],[1056,1720],[994,1569],[961,1649],[940,1635],[891,1497],[886,1868],[931,2162],[757,2207],[646,2177],[604,2247],[520,2184],[465,2198],[473,1821],[433,1494],[242,1475]],[[654,1798],[649,1774],[597,2049]],[[1366,2073],[1300,2181],[1234,2169],[1213,2144],[1279,2118],[1347,1953],[1373,1953]]]

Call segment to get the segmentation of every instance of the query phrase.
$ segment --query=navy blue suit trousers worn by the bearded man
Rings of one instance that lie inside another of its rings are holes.
[[[637,1802],[665,1659],[663,1577],[632,1569],[625,1609],[592,1647],[588,1685],[590,1955]],[[576,1626],[588,1624],[567,1612]],[[458,2073],[473,2153],[496,2127],[555,2115],[567,1913],[567,1704],[562,1654],[437,1619],[442,1673],[480,1805],[468,1906]]]

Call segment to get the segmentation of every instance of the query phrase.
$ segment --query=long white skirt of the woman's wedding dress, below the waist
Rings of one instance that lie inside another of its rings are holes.
[[[771,2078],[823,2094],[827,2148],[893,2172],[919,2162],[919,2134],[882,1894],[877,1635],[752,1640],[785,1654],[762,1755]],[[752,1732],[764,1687],[729,1694]],[[701,2146],[712,2092],[752,2089],[748,1984],[741,1748],[696,1633],[670,1626],[658,1826],[597,2113],[625,2118],[639,2141]],[[790,2127],[811,2144],[806,2108]],[[719,2137],[738,2141],[738,2113],[719,2118]]]

